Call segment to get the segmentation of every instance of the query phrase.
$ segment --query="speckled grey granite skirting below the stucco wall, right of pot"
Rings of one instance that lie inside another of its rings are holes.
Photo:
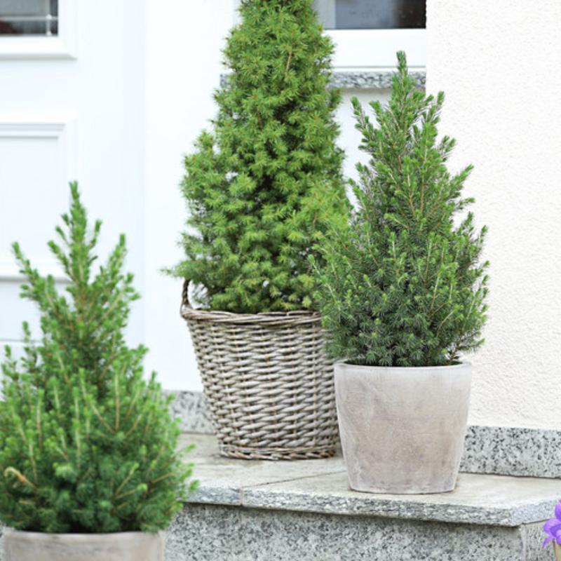
[[[460,471],[561,478],[561,431],[469,426]]]

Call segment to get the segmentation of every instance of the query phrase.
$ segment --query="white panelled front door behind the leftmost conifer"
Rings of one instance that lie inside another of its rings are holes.
[[[144,0],[0,1],[0,360],[40,337],[11,244],[60,278],[47,248],[77,180],[100,252],[126,233],[127,269],[142,291]],[[142,301],[141,301],[142,302]],[[128,338],[142,339],[142,304]]]

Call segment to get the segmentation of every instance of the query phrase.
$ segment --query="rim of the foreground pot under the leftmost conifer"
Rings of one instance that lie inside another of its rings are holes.
[[[163,561],[165,533],[45,534],[4,528],[4,561]]]

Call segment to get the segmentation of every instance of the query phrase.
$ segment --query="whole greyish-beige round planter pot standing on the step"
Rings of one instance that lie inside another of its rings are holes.
[[[471,365],[335,363],[339,432],[351,489],[452,491],[464,450]]]

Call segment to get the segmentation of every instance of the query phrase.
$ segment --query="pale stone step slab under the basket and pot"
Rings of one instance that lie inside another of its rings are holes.
[[[561,480],[480,473],[461,473],[449,493],[355,492],[340,452],[330,459],[252,461],[219,456],[213,435],[185,433],[182,443],[197,446],[186,457],[200,482],[190,504],[519,527],[551,518],[561,497]]]

